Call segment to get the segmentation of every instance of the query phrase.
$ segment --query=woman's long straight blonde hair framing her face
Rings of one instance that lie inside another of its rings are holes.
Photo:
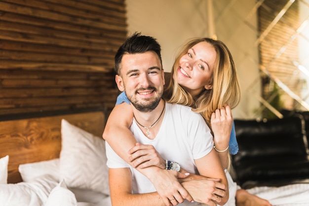
[[[178,84],[177,70],[180,58],[188,53],[188,50],[199,42],[210,43],[216,51],[216,61],[210,82],[205,85],[212,85],[212,89],[204,89],[196,98],[193,98],[181,85]],[[172,71],[171,80],[166,87],[165,95],[169,103],[179,103],[193,107],[194,112],[200,113],[209,128],[211,129],[211,114],[216,109],[230,104],[231,109],[236,107],[240,101],[240,87],[236,74],[236,67],[228,47],[220,40],[211,38],[193,38],[181,47],[176,56]],[[231,159],[228,158],[228,171],[231,167]]]

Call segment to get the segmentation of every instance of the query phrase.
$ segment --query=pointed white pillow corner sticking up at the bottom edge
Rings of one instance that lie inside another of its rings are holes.
[[[62,180],[49,194],[45,206],[77,206],[77,200]]]

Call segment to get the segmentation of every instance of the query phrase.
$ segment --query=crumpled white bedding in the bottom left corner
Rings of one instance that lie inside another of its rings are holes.
[[[42,206],[58,181],[50,175],[40,176],[32,182],[0,184],[1,206]]]

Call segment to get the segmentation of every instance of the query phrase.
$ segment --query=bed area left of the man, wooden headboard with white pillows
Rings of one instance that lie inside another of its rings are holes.
[[[0,205],[111,206],[105,114],[94,108],[1,117]]]

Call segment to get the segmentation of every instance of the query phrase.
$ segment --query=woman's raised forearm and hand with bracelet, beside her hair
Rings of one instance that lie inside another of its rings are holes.
[[[211,128],[214,134],[214,145],[223,169],[229,166],[229,141],[232,131],[232,111],[229,105],[216,109],[211,114]],[[228,148],[228,149],[227,149]]]

